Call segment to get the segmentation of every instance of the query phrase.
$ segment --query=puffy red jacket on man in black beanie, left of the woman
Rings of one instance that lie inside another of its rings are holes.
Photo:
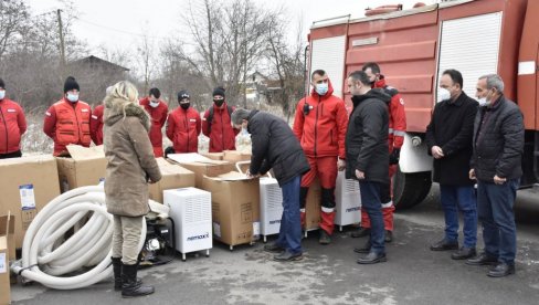
[[[45,113],[43,132],[54,140],[54,156],[66,151],[65,146],[77,144],[89,147],[89,117],[92,108],[78,101],[71,103],[63,98],[54,103]]]

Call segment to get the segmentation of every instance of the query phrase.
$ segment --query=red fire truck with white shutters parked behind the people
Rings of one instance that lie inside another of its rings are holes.
[[[366,62],[379,63],[388,84],[403,96],[408,130],[394,178],[397,207],[412,207],[430,191],[432,158],[423,140],[438,78],[446,69],[462,72],[468,96],[475,96],[479,76],[497,73],[503,77],[506,96],[517,102],[525,117],[521,187],[536,183],[539,0],[450,0],[393,12],[387,12],[388,8],[356,20],[345,17],[313,23],[308,66],[310,72],[328,72],[334,94],[348,107],[346,76]]]

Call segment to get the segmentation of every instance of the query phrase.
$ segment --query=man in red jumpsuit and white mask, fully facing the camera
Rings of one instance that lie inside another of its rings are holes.
[[[305,204],[313,180],[321,185],[320,244],[329,244],[334,232],[335,185],[337,170],[346,167],[345,137],[348,113],[345,102],[334,96],[328,75],[323,70],[313,72],[309,96],[297,104],[294,134],[309,161],[310,170],[302,178],[299,207],[302,227],[305,225]]]

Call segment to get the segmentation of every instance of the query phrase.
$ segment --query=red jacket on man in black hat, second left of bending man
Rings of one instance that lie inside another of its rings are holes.
[[[189,107],[176,108],[167,119],[167,137],[172,141],[176,154],[198,152],[201,130],[200,114]]]

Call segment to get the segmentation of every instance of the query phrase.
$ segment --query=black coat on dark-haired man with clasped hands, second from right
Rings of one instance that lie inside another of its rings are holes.
[[[442,101],[434,107],[431,124],[426,126],[426,146],[444,151],[442,159],[434,159],[433,180],[441,185],[473,186],[469,179],[469,160],[473,148],[474,120],[478,103],[464,92],[454,102]]]

